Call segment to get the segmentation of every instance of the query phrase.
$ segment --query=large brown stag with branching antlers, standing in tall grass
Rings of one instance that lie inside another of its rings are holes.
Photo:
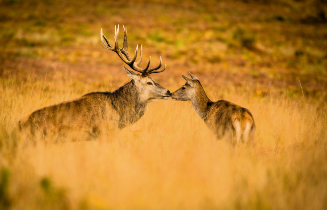
[[[145,113],[147,103],[159,99],[168,99],[171,92],[155,82],[150,74],[160,73],[167,67],[161,68],[162,60],[157,66],[149,68],[150,59],[144,68],[139,67],[142,61],[142,45],[140,57],[136,61],[138,45],[134,56],[128,53],[127,28],[123,26],[123,47],[119,48],[119,25],[115,26],[115,44],[109,44],[108,39],[100,31],[103,46],[114,51],[121,60],[132,70],[124,69],[131,79],[125,85],[113,92],[90,92],[79,98],[59,102],[41,108],[19,121],[20,130],[28,130],[31,135],[41,131],[45,136],[49,131],[61,132],[84,130],[93,137],[98,137],[102,129],[122,129],[137,122]],[[161,69],[160,69],[161,68]]]

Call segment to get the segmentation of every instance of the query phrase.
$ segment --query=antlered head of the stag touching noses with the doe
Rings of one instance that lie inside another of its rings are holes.
[[[142,45],[141,45],[141,51],[140,51],[140,57],[139,60],[136,61],[137,57],[137,51],[138,51],[138,45],[136,46],[135,54],[132,57],[128,54],[128,44],[127,44],[127,28],[123,26],[124,29],[124,42],[123,47],[119,48],[118,46],[118,33],[119,33],[119,25],[116,28],[115,26],[115,45],[111,46],[109,44],[108,39],[103,35],[102,29],[101,29],[101,41],[105,48],[108,50],[112,50],[117,53],[117,55],[134,71],[137,71],[141,74],[135,73],[127,68],[124,67],[124,69],[127,72],[127,75],[132,79],[132,82],[136,85],[136,87],[139,88],[140,91],[140,100],[151,102],[159,99],[168,99],[171,96],[171,92],[162,87],[160,84],[156,83],[151,77],[150,74],[152,73],[159,73],[166,69],[165,67],[162,69],[159,69],[162,66],[162,60],[160,57],[160,63],[159,65],[149,68],[150,66],[150,60],[151,56],[149,57],[149,61],[145,68],[140,68],[138,65],[142,61]]]

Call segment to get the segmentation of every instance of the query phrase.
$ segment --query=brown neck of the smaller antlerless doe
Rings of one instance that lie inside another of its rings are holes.
[[[207,115],[210,102],[211,100],[206,95],[202,86],[196,91],[194,97],[191,99],[191,104],[201,119],[204,119]]]

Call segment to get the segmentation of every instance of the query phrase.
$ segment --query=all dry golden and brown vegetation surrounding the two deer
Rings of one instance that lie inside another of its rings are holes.
[[[327,207],[325,1],[88,2],[0,3],[0,209]],[[128,81],[100,41],[117,24],[162,56],[163,86],[192,72],[210,99],[251,110],[256,141],[233,150],[169,99],[97,141],[26,145],[23,116]]]

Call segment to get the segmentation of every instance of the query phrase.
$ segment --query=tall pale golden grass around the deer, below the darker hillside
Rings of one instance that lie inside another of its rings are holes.
[[[59,83],[58,83],[59,82]],[[26,145],[17,121],[92,89],[71,81],[2,81],[0,204],[13,209],[324,209],[326,108],[308,99],[224,99],[249,108],[256,140],[217,141],[191,104],[150,103],[136,124],[96,141]],[[66,88],[62,88],[66,87]],[[67,88],[68,87],[68,88]],[[105,87],[109,88],[109,87]],[[177,87],[170,87],[175,90]],[[110,89],[110,88],[109,88]],[[223,91],[221,91],[223,92]],[[208,91],[218,99],[221,92]]]

